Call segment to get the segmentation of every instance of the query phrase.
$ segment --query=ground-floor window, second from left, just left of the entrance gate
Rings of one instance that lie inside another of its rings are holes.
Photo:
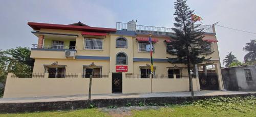
[[[99,78],[101,75],[101,68],[84,68],[83,69],[83,77],[90,78],[92,75],[93,78]]]

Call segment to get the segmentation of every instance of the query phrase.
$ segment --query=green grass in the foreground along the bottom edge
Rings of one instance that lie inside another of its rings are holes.
[[[160,109],[133,110],[133,116],[256,116],[256,97],[212,98]],[[0,114],[0,116],[111,116],[98,109]]]

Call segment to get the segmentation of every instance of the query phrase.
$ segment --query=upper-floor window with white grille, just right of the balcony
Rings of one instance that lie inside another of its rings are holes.
[[[84,49],[102,50],[103,39],[84,38]]]

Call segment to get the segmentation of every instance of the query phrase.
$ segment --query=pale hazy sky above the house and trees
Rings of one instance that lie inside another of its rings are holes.
[[[37,38],[27,22],[71,24],[78,21],[90,26],[113,27],[116,22],[137,19],[139,25],[173,27],[174,1],[3,1],[0,0],[0,49],[31,47]],[[237,28],[256,33],[255,0],[190,0],[187,2],[203,23]],[[255,34],[216,26],[221,61],[232,51],[239,61],[246,54],[242,48]]]

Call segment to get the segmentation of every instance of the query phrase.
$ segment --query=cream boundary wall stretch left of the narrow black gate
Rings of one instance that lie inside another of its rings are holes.
[[[92,94],[111,94],[111,78],[93,78]],[[99,85],[100,84],[100,85]],[[11,78],[4,98],[86,95],[89,78]]]

